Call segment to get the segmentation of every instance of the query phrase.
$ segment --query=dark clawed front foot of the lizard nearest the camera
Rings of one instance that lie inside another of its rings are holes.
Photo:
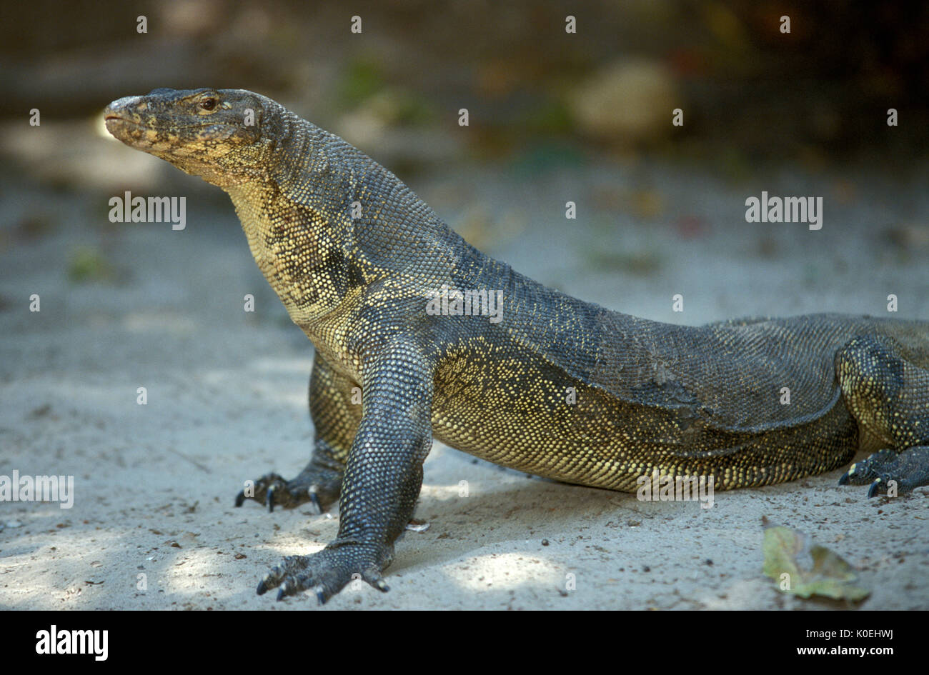
[[[322,551],[309,555],[288,555],[258,584],[258,595],[280,587],[278,600],[283,600],[288,595],[312,591],[320,604],[325,604],[356,579],[386,592],[390,589],[381,578],[381,570],[386,563],[376,562],[385,557],[373,554],[370,546],[351,541],[335,541]]]

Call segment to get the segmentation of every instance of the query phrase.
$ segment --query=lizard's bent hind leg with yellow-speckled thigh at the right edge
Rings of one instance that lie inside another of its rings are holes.
[[[929,486],[929,369],[887,337],[862,335],[836,355],[845,406],[862,437],[883,449],[852,464],[840,485],[870,483],[868,496]]]

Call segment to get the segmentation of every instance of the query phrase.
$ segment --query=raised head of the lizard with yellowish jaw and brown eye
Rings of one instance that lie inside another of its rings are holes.
[[[171,162],[220,187],[242,183],[260,166],[272,116],[270,99],[243,89],[155,89],[114,100],[107,131],[130,148]]]

